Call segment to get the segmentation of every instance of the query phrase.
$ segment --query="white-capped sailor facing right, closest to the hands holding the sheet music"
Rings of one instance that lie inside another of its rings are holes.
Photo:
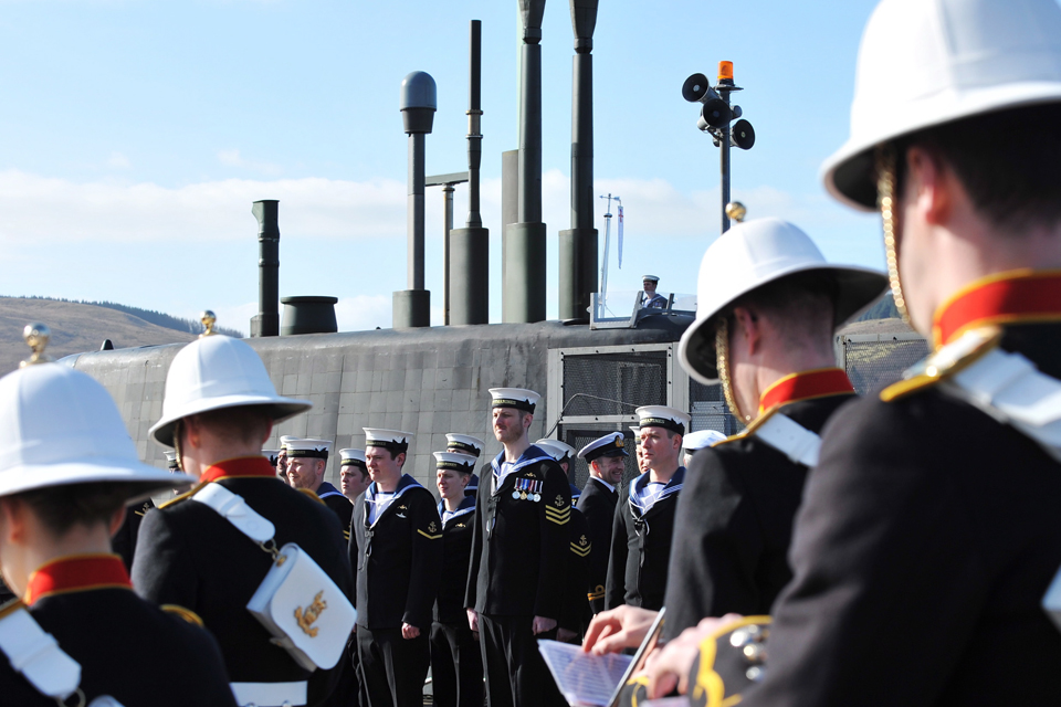
[[[674,509],[685,479],[682,436],[690,416],[666,405],[637,410],[641,455],[649,471],[630,484],[616,507],[605,584],[605,608],[621,604],[659,611],[666,589]]]

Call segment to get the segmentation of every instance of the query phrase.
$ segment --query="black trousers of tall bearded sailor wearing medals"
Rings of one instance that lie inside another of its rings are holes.
[[[567,706],[538,653],[538,640],[556,640],[556,629],[534,635],[533,616],[479,616],[490,707]]]

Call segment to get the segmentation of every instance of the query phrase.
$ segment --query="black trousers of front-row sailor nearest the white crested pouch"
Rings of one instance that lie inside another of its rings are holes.
[[[369,707],[423,707],[428,633],[402,639],[401,629],[357,627],[357,655]]]

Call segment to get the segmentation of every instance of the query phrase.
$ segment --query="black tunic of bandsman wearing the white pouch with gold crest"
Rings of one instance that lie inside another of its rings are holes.
[[[295,542],[353,600],[354,578],[335,514],[276,477],[261,456],[230,460],[218,481],[273,523],[277,547]],[[255,475],[242,475],[255,473]],[[241,475],[235,475],[241,474]],[[190,495],[190,494],[188,494]],[[234,683],[302,682],[309,673],[246,611],[246,602],[272,567],[272,557],[212,508],[180,496],[144,517],[133,563],[133,584],[157,604],[199,614],[218,640]],[[323,699],[338,668],[316,671],[311,704]],[[316,697],[315,697],[316,696]]]

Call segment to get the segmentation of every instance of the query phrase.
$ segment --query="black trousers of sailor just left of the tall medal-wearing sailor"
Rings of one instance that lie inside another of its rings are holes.
[[[483,654],[468,624],[431,624],[431,685],[439,707],[483,707]]]

